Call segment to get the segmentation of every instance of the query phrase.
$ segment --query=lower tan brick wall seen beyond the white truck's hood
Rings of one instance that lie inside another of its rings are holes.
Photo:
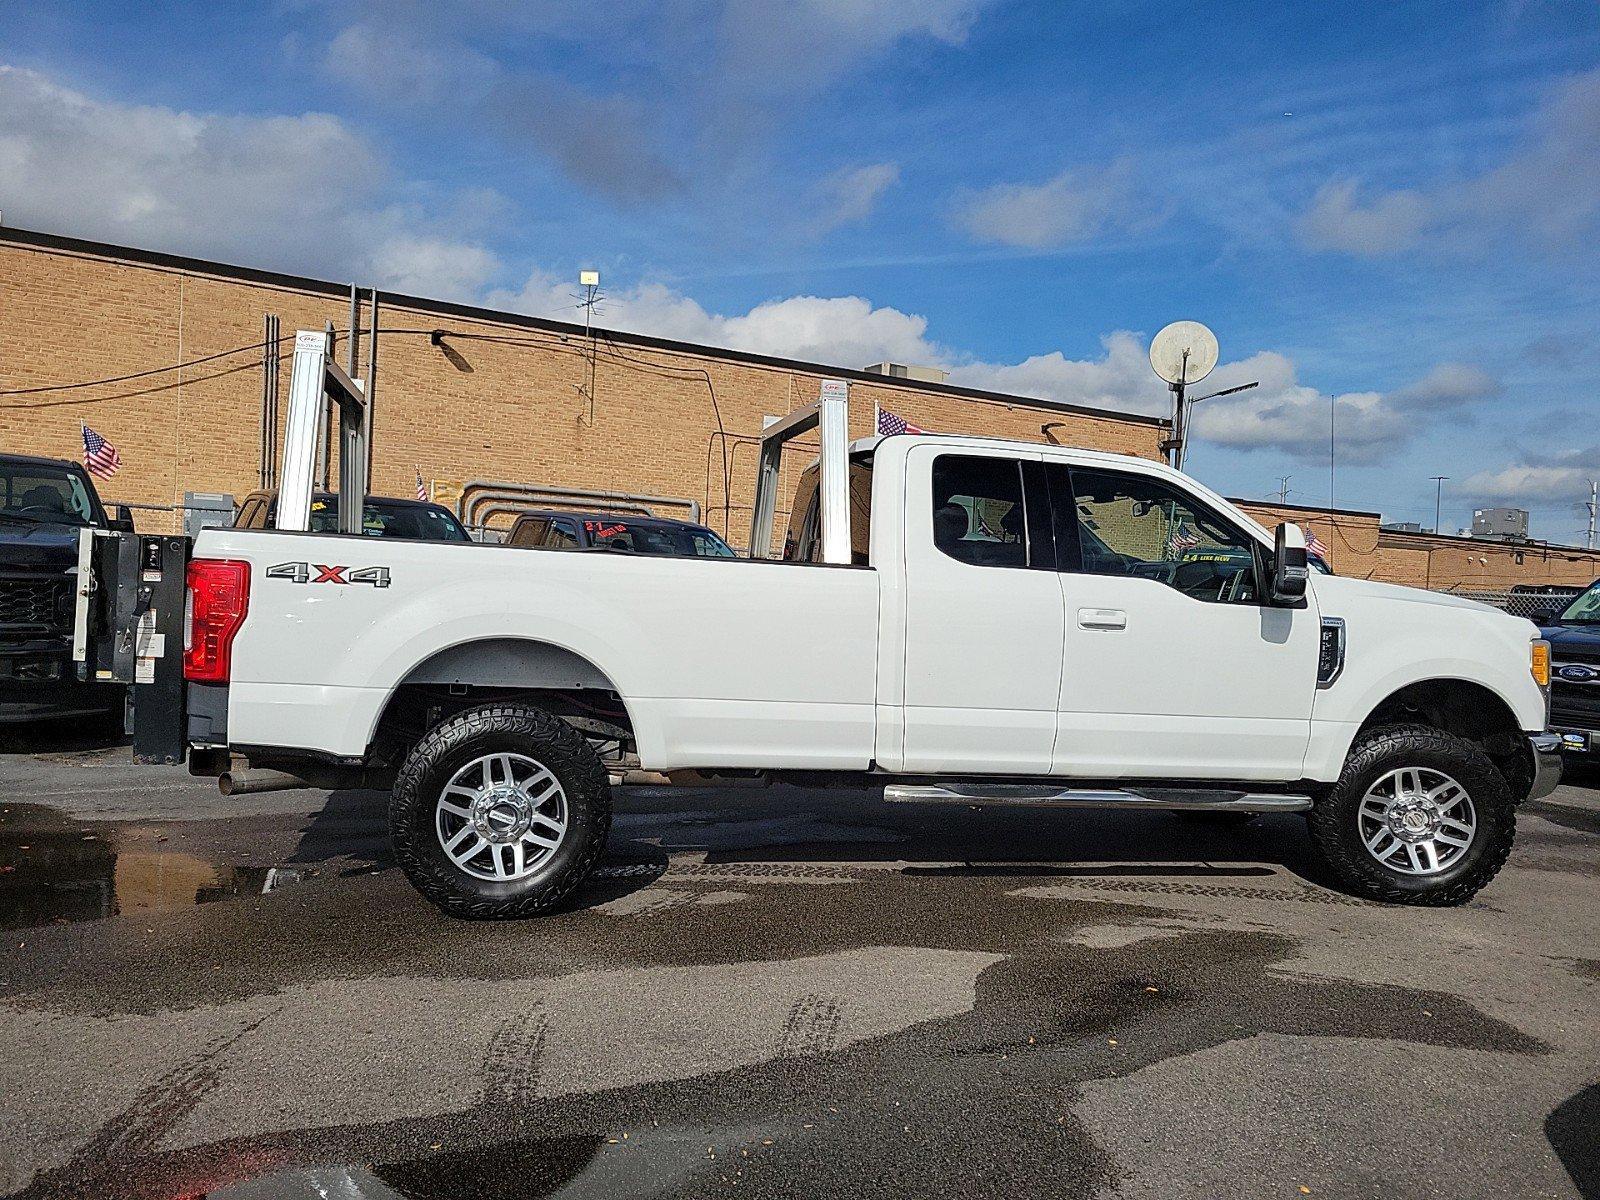
[[[1584,587],[1600,578],[1600,550],[1392,533],[1378,528],[1378,517],[1358,512],[1330,515],[1254,502],[1240,507],[1269,530],[1278,522],[1296,522],[1301,528],[1315,530],[1331,552],[1333,570],[1362,579],[1438,590],[1493,592],[1538,584]]]

